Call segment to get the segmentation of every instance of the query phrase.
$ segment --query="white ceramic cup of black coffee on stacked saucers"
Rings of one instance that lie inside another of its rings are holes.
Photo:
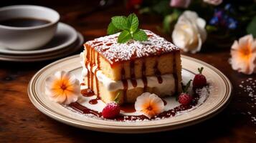
[[[11,19],[47,21],[36,26],[10,26]],[[60,14],[43,6],[16,5],[0,8],[0,49],[32,50],[47,44],[54,36]]]

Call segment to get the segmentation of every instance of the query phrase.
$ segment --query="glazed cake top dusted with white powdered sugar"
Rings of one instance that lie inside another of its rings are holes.
[[[144,31],[148,35],[148,41],[131,40],[125,44],[119,44],[117,39],[120,33],[117,33],[87,41],[85,45],[90,45],[95,51],[98,51],[105,59],[110,61],[110,64],[179,50],[174,44],[152,31]]]

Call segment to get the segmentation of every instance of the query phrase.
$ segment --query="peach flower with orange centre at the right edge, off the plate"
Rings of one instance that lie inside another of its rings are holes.
[[[231,47],[229,63],[232,69],[244,74],[256,73],[256,40],[252,35],[246,35],[234,41]]]

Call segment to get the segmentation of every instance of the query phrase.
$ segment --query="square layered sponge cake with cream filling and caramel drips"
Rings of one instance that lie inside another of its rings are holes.
[[[145,30],[148,41],[118,43],[118,34],[85,43],[81,53],[87,94],[103,102],[134,103],[143,92],[166,97],[181,92],[181,55],[166,39]]]

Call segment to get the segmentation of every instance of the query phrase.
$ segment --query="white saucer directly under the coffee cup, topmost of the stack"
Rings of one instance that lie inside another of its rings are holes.
[[[43,46],[41,49],[28,50],[28,51],[17,51],[11,49],[0,48],[0,54],[5,55],[30,55],[30,54],[45,54],[52,51],[57,51],[67,46],[70,46],[77,39],[77,31],[72,26],[64,23],[59,23],[55,36],[49,43]],[[15,41],[14,41],[15,42]]]

